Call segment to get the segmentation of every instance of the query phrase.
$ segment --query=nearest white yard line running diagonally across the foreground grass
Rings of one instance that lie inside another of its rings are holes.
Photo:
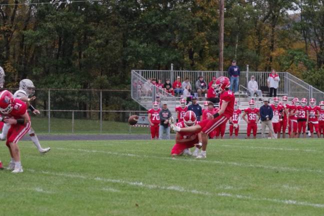
[[[33,169],[28,169],[28,170],[37,172]],[[232,193],[225,193],[225,192],[210,193],[207,191],[200,191],[200,190],[196,190],[196,189],[186,189],[186,188],[184,188],[182,186],[178,186],[178,185],[161,186],[161,185],[157,185],[157,184],[145,184],[141,181],[128,181],[128,180],[122,180],[122,179],[112,179],[112,178],[102,178],[102,177],[87,177],[87,176],[84,176],[81,174],[70,174],[70,173],[64,173],[64,172],[60,172],[60,173],[49,172],[49,171],[39,171],[39,172],[43,173],[43,174],[48,174],[48,175],[71,177],[71,178],[81,178],[81,179],[86,179],[86,180],[90,180],[90,181],[96,180],[96,181],[102,181],[102,182],[127,184],[127,185],[131,185],[131,186],[144,187],[147,189],[171,190],[171,191],[188,192],[188,193],[201,194],[201,195],[225,196],[225,197],[231,197],[231,198],[237,198],[237,199],[248,199],[248,200],[253,200],[253,201],[269,201],[269,202],[275,202],[275,203],[280,203],[280,204],[292,204],[292,205],[302,205],[302,206],[324,208],[324,204],[311,203],[311,202],[306,202],[306,201],[297,201],[297,200],[291,200],[291,199],[252,197],[250,195],[232,194]]]

